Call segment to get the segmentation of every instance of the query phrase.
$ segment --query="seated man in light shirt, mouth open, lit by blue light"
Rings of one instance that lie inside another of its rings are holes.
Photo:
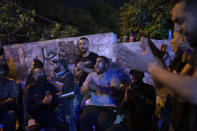
[[[80,116],[81,131],[91,131],[94,125],[104,130],[116,118],[115,94],[120,89],[120,77],[115,69],[109,68],[109,60],[104,56],[97,58],[95,69],[81,88],[82,95],[88,92],[91,96]]]

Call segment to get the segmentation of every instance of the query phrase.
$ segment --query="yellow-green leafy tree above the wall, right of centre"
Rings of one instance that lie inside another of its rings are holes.
[[[121,36],[132,33],[134,40],[166,39],[172,28],[168,0],[130,0],[120,8],[120,17]]]

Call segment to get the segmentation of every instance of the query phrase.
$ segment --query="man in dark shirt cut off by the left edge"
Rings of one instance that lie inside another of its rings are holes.
[[[13,80],[6,78],[9,67],[0,64],[0,123],[5,131],[14,131],[16,126],[15,108],[18,99],[18,86]]]

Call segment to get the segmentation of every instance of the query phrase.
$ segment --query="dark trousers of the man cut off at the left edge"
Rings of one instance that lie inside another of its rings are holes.
[[[9,110],[0,114],[0,123],[3,124],[4,131],[16,130],[16,112]]]

